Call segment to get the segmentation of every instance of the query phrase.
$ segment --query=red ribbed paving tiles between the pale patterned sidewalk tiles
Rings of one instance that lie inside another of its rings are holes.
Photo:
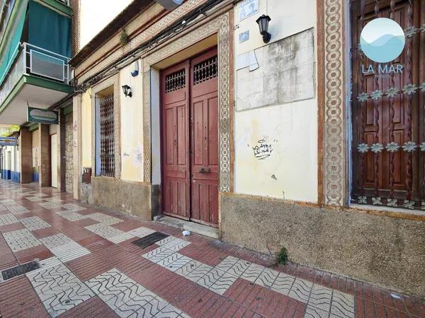
[[[42,189],[42,192],[46,194],[51,191],[52,189]],[[140,247],[132,244],[132,241],[136,238],[114,245],[103,237],[84,229],[85,226],[96,224],[97,221],[95,220],[84,219],[72,222],[55,213],[64,211],[65,209],[62,207],[42,208],[38,205],[40,202],[31,202],[24,197],[5,192],[18,204],[30,209],[30,213],[18,215],[18,218],[37,215],[52,225],[50,228],[33,231],[35,237],[42,238],[62,232],[91,251],[91,254],[74,259],[66,264],[82,281],[115,267],[193,317],[303,317],[305,313],[305,303],[249,283],[249,281],[241,278],[237,279],[224,295],[212,293],[212,291],[142,257],[142,254],[156,248],[157,245],[140,249]],[[182,237],[181,230],[176,228],[169,228],[159,223],[149,223],[124,214],[80,204],[74,201],[69,194],[55,194],[55,196],[64,200],[61,203],[55,203],[58,206],[73,203],[86,207],[86,210],[77,211],[81,215],[101,212],[123,219],[122,223],[111,225],[118,230],[129,231],[145,226],[169,235]],[[8,211],[0,211],[0,213],[4,212],[8,213]],[[0,232],[22,228],[21,223],[4,225],[0,226]],[[217,240],[210,240],[200,235],[191,235],[185,237],[185,239],[193,244],[184,247],[179,253],[210,266],[217,265],[228,255],[253,261],[263,266],[271,264],[271,259],[262,254],[227,245]],[[4,241],[4,237],[0,235],[0,269],[51,256],[51,252],[42,245],[13,254]],[[423,300],[399,293],[396,294],[399,295],[400,299],[393,298],[390,295],[390,290],[311,269],[307,266],[288,264],[287,266],[280,266],[277,270],[354,295],[356,317],[425,318]],[[47,317],[45,308],[26,276],[19,276],[0,283],[0,312],[1,317]],[[117,316],[103,301],[94,297],[77,305],[60,317]]]

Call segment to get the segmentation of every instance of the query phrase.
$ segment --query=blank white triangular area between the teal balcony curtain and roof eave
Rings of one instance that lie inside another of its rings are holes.
[[[84,47],[132,0],[81,0],[80,47]]]

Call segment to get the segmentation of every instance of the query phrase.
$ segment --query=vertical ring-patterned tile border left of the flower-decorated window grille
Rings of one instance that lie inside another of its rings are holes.
[[[324,203],[346,204],[346,132],[344,72],[344,6],[343,0],[322,0],[319,16],[324,25],[319,32],[324,47],[324,127],[323,127],[323,195]],[[319,199],[319,201],[322,201]]]

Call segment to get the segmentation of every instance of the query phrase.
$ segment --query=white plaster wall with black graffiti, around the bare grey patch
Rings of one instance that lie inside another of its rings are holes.
[[[264,45],[255,20],[261,14],[271,17],[271,42],[314,28],[314,64],[316,56],[315,0],[259,0],[259,12],[239,21],[236,6],[234,33],[235,65],[239,54]],[[249,30],[249,40],[239,43],[239,33]],[[261,65],[259,65],[261,68]],[[236,69],[235,69],[236,73]],[[315,78],[317,78],[316,71]],[[242,194],[271,196],[295,201],[317,202],[317,83],[314,98],[270,105],[234,113],[234,189]],[[244,88],[237,87],[238,100]],[[279,83],[280,86],[291,83]],[[264,92],[267,93],[267,92]],[[254,147],[271,146],[268,158],[259,160]]]

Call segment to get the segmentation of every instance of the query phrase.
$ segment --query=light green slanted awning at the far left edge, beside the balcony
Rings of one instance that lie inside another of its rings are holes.
[[[24,11],[21,16],[16,20],[15,26],[12,28],[13,35],[11,35],[10,40],[6,43],[6,49],[4,54],[1,56],[0,63],[0,86],[6,78],[6,74],[11,69],[13,61],[16,59],[16,56],[19,52],[19,45],[22,37],[23,24],[25,22],[26,12]]]

